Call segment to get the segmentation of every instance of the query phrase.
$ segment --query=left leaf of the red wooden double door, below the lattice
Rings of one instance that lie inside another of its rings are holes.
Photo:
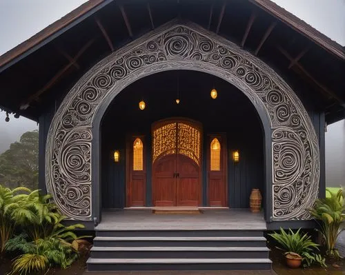
[[[176,155],[168,155],[159,159],[153,168],[153,205],[176,205]]]

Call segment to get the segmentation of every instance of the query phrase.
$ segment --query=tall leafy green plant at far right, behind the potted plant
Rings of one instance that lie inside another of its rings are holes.
[[[311,214],[319,223],[319,231],[326,245],[327,254],[338,258],[339,253],[335,248],[335,243],[345,221],[344,193],[342,189],[333,193],[328,188],[326,188],[326,192],[328,197],[317,199],[311,209]]]

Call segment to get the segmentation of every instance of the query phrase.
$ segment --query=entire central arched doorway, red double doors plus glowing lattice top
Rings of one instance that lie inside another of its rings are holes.
[[[167,119],[152,125],[153,205],[201,205],[201,136],[196,121]]]

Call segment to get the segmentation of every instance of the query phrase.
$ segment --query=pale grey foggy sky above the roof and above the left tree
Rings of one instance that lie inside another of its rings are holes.
[[[331,39],[345,45],[344,0],[274,0]],[[50,23],[86,2],[85,0],[0,0],[0,54],[25,41]],[[0,87],[1,90],[1,87]],[[37,129],[28,119],[5,122],[0,112],[0,153],[23,132]]]

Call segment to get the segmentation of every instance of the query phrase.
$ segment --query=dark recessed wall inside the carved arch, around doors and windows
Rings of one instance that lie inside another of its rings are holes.
[[[217,99],[210,90],[217,89]],[[180,103],[176,103],[177,97]],[[146,103],[139,110],[139,101]],[[254,105],[230,83],[203,72],[173,70],[140,79],[121,91],[109,106],[101,125],[101,202],[103,208],[126,205],[126,139],[142,135],[146,150],[146,206],[150,206],[151,125],[169,117],[185,117],[202,124],[203,151],[208,134],[224,133],[228,148],[228,206],[248,207],[250,190],[259,188],[264,200],[264,147],[261,121]],[[119,150],[120,161],[114,162]],[[233,150],[240,161],[234,163]],[[206,188],[206,154],[203,154]],[[203,192],[203,205],[206,203]]]

